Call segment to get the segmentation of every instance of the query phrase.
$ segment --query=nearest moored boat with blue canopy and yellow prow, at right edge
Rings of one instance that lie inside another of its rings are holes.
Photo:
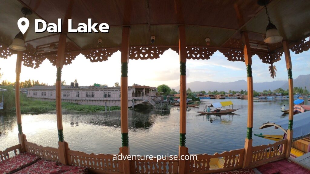
[[[284,135],[264,135],[254,134],[255,136],[266,138],[273,141],[280,141],[286,138],[288,120],[280,119],[263,124],[259,129],[275,126],[280,128]],[[291,147],[290,156],[293,158],[299,157],[305,153],[310,152],[310,112],[303,112],[294,116],[293,120],[293,143]]]

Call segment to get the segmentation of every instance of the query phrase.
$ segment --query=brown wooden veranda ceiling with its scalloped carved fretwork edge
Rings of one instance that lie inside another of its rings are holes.
[[[275,63],[283,54],[281,42],[264,42],[268,20],[264,6],[257,1],[133,0],[89,3],[86,0],[6,0],[0,6],[0,21],[5,21],[5,25],[0,28],[2,58],[16,54],[8,46],[19,32],[16,22],[23,16],[22,7],[33,11],[32,15],[26,16],[31,25],[24,36],[26,50],[23,62],[28,67],[37,68],[45,59],[56,64],[57,49],[39,50],[42,47],[56,48],[60,33],[36,33],[36,19],[55,24],[58,23],[57,19],[72,19],[72,28],[77,28],[79,23],[87,23],[88,19],[92,19],[92,23],[104,22],[109,25],[108,33],[63,31],[67,33],[64,65],[72,63],[81,53],[91,62],[108,60],[120,50],[123,26],[130,26],[129,59],[157,59],[169,48],[178,52],[179,25],[185,26],[188,59],[210,59],[219,50],[229,61],[244,62],[242,32],[248,33],[252,43],[250,50],[263,63]],[[270,0],[267,7],[272,23],[277,26],[283,40],[289,43],[290,49],[296,54],[303,52],[304,49],[298,46],[309,37],[310,1],[300,0],[295,3]],[[151,36],[156,36],[154,43],[150,41]],[[97,41],[99,38],[102,39],[101,43]],[[206,38],[210,38],[210,44],[206,44]]]

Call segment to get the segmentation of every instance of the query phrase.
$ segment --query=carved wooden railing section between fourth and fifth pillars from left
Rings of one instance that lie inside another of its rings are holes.
[[[197,154],[197,160],[189,160],[189,173],[217,173],[237,170],[242,168],[243,158],[244,149],[213,155]]]

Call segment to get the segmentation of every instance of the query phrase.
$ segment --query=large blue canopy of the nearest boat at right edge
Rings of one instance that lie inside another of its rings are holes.
[[[279,119],[272,122],[267,122],[263,124],[259,129],[268,128],[271,126],[275,126],[280,128],[285,133],[288,129],[289,121],[287,118]],[[294,115],[293,120],[293,141],[301,139],[310,135],[310,112],[303,112],[297,115]]]

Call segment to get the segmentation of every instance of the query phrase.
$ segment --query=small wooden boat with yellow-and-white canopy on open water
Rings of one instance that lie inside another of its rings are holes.
[[[222,110],[222,107],[226,107],[229,106],[228,109]],[[230,106],[232,106],[232,108],[230,108]],[[205,112],[204,111],[196,111],[199,114],[214,114],[214,115],[218,115],[218,114],[228,114],[228,113],[232,113],[234,111],[237,111],[238,109],[233,109],[233,103],[231,101],[226,101],[226,102],[216,102],[216,103],[212,103],[210,105],[210,107],[213,107],[214,111],[210,111],[210,112]]]

